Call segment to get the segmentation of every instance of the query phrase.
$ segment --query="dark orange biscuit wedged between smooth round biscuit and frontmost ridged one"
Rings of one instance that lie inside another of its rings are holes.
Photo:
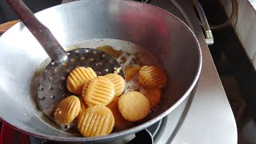
[[[122,114],[119,112],[118,98],[114,98],[107,107],[110,108],[114,115],[114,128],[118,130],[126,130],[133,126],[133,123],[126,121],[126,119],[123,118]]]

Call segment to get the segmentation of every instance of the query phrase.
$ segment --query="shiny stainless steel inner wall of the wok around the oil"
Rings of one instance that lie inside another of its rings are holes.
[[[90,38],[118,38],[146,47],[166,70],[168,89],[154,115],[130,130],[99,138],[62,132],[38,110],[31,95],[32,81],[37,76],[35,71],[47,55],[26,27],[18,23],[0,38],[0,116],[20,130],[59,141],[122,138],[165,117],[196,85],[202,64],[198,41],[183,22],[157,7],[119,0],[87,0],[55,6],[36,16],[62,47]]]

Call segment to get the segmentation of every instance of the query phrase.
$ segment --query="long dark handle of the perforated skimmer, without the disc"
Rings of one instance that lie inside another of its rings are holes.
[[[50,30],[39,22],[34,16],[31,10],[25,5],[22,0],[6,0],[14,12],[18,15],[18,18],[22,20],[24,25],[30,30],[30,32],[37,38],[41,46],[46,50],[52,61],[63,62],[67,56],[65,50],[58,43],[57,39]]]

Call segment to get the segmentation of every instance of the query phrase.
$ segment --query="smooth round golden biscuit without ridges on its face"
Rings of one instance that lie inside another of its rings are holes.
[[[127,121],[136,122],[150,114],[150,101],[142,93],[130,91],[119,98],[118,110]]]

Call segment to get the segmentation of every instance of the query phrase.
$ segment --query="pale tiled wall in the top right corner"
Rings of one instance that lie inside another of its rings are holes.
[[[231,14],[231,0],[220,0],[226,9],[227,14]],[[237,30],[242,45],[250,60],[256,68],[256,0],[238,0],[238,16],[233,25]]]

